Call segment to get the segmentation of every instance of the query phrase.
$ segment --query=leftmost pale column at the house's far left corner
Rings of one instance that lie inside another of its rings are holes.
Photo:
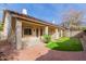
[[[4,18],[4,29],[3,29],[4,39],[8,39],[10,31],[11,31],[11,15],[7,13]]]

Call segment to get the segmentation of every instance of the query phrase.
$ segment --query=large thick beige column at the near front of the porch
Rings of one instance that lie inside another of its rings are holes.
[[[22,48],[22,22],[16,20],[15,24],[15,36],[16,36],[16,49]]]

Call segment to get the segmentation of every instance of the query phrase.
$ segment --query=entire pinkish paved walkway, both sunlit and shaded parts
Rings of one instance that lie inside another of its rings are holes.
[[[86,51],[67,52],[49,50],[44,44],[38,44],[21,50],[15,60],[21,61],[86,61]]]

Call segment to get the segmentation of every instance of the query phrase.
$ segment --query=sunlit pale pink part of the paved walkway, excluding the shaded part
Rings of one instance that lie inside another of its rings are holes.
[[[44,44],[37,44],[19,51],[19,54],[15,56],[14,60],[33,61],[39,57],[40,55],[46,54],[48,50],[49,49],[45,48]]]

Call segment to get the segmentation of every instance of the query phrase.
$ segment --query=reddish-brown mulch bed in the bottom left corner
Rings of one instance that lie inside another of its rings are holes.
[[[15,54],[16,51],[10,42],[0,41],[0,61],[11,61]]]

